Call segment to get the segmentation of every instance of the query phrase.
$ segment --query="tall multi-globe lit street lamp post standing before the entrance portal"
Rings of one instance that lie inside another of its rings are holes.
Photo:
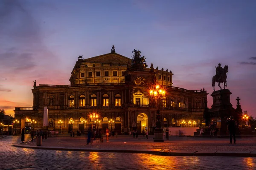
[[[156,85],[150,90],[151,100],[156,101],[157,105],[157,122],[156,122],[156,129],[154,130],[154,142],[163,142],[163,128],[160,122],[160,105],[161,99],[165,96],[166,91],[160,89],[159,85]]]

